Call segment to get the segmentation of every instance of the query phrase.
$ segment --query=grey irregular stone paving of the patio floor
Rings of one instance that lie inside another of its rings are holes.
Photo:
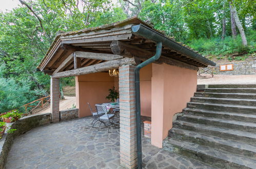
[[[91,128],[90,117],[52,123],[15,138],[6,168],[122,168],[119,129]],[[98,124],[99,125],[99,124]],[[208,168],[144,138],[144,168]]]

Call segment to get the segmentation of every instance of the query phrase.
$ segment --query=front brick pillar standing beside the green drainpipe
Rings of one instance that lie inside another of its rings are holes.
[[[126,168],[137,165],[134,71],[133,65],[119,68],[120,163]]]

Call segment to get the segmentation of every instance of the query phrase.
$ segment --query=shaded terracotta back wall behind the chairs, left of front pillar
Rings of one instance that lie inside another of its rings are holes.
[[[79,117],[91,115],[87,102],[94,108],[95,103],[109,102],[106,99],[106,96],[109,94],[108,89],[114,85],[114,77],[110,77],[108,73],[92,73],[76,76],[76,108],[79,109]]]

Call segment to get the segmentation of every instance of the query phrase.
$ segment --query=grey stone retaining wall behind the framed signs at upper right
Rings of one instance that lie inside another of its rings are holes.
[[[233,64],[233,71],[220,71],[220,65]],[[216,65],[215,71],[213,74],[221,74],[221,75],[249,75],[256,74],[256,59],[241,61],[241,62],[228,62],[225,64]]]

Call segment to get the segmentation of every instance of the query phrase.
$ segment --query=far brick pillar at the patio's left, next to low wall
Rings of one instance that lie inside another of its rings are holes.
[[[60,121],[60,79],[51,78],[52,122]]]

